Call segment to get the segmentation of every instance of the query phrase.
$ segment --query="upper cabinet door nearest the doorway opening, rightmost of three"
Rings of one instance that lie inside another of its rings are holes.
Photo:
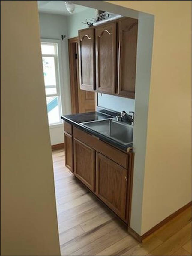
[[[119,66],[118,94],[135,98],[138,20],[123,18],[118,21]]]

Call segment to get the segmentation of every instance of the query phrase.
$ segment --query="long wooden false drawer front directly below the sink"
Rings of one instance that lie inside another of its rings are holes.
[[[81,141],[83,141],[88,146],[94,148],[98,152],[104,154],[117,164],[128,168],[129,156],[128,154],[108,145],[107,143],[99,140],[99,138],[90,135],[76,127],[73,127],[73,136]]]

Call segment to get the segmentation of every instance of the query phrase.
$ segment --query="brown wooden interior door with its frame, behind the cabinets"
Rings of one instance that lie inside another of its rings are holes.
[[[95,92],[79,87],[78,37],[68,40],[72,114],[95,111]]]

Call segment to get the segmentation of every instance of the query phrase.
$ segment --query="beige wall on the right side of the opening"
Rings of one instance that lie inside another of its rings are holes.
[[[107,2],[155,15],[142,235],[191,201],[191,2]]]

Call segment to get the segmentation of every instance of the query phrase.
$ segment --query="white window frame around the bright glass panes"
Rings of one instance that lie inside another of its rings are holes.
[[[55,85],[47,85],[45,86],[45,96],[47,97],[58,97],[58,109],[59,109],[59,116],[62,116],[62,112],[63,112],[63,102],[61,100],[61,42],[58,39],[45,39],[45,38],[41,38],[41,44],[47,44],[47,45],[56,45],[55,50],[56,50],[56,54],[42,54],[41,53],[41,57],[54,57],[55,60],[55,79],[56,79],[56,86]],[[50,95],[46,95],[46,88],[55,88],[56,87],[56,94],[50,94]],[[48,117],[48,112],[47,112],[47,117]],[[62,120],[60,119],[60,121],[58,123],[53,123],[53,124],[49,124],[49,128],[56,128],[58,126],[62,126]]]

